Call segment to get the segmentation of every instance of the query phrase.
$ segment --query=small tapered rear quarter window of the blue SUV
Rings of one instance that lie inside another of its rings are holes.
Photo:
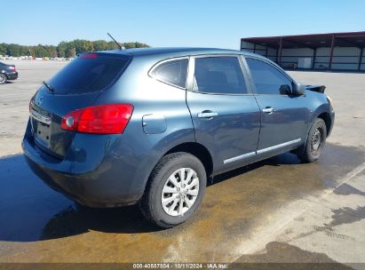
[[[168,60],[155,67],[151,76],[163,83],[186,87],[187,59]]]

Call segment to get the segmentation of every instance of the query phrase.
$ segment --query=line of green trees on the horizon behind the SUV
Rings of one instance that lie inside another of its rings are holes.
[[[147,44],[139,42],[121,44],[126,49],[130,48],[146,48]],[[13,57],[32,56],[32,57],[60,57],[70,58],[80,52],[97,52],[105,50],[118,49],[113,41],[96,40],[89,41],[84,39],[75,39],[70,42],[61,42],[57,46],[42,45],[24,46],[20,44],[0,44],[0,55],[8,55]]]

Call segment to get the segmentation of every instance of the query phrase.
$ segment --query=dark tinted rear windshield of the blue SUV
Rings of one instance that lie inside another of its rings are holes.
[[[56,94],[100,91],[115,81],[129,58],[109,53],[83,53],[48,82]]]

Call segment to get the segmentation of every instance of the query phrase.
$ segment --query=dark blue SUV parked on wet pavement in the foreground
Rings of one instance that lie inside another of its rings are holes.
[[[22,147],[30,168],[76,202],[139,203],[171,227],[222,172],[288,151],[317,160],[335,117],[323,91],[250,52],[83,53],[30,100]]]

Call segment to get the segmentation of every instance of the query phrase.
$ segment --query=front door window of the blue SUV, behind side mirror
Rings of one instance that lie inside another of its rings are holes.
[[[287,95],[292,90],[290,79],[278,69],[261,60],[246,59],[255,82],[256,93]]]

